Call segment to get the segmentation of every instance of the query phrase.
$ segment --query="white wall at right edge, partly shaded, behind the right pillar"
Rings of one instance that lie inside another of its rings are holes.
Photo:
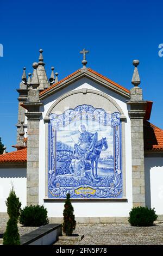
[[[145,157],[146,205],[163,214],[163,157]]]

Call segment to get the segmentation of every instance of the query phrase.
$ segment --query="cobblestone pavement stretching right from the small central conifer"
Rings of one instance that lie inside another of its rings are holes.
[[[54,245],[163,245],[163,223],[152,227],[129,224],[77,224],[74,234],[82,241],[58,241]]]

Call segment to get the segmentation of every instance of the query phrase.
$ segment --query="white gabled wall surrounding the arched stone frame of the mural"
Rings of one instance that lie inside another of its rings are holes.
[[[125,147],[126,152],[123,154],[126,156],[126,181],[123,184],[124,190],[126,190],[126,195],[124,196],[127,198],[127,202],[103,202],[100,199],[97,199],[96,202],[73,202],[74,206],[74,213],[76,217],[126,217],[130,209],[132,208],[132,179],[131,179],[131,141],[130,141],[130,119],[128,117],[128,109],[126,104],[126,98],[112,92],[109,89],[106,89],[99,84],[88,80],[87,78],[82,78],[81,80],[74,82],[70,86],[61,91],[49,96],[48,98],[42,100],[43,107],[41,107],[42,111],[42,120],[40,120],[40,153],[39,153],[39,204],[44,204],[48,210],[49,217],[62,217],[62,211],[64,209],[64,202],[56,202],[53,199],[53,202],[44,202],[43,198],[45,198],[45,194],[47,193],[47,184],[45,180],[45,164],[46,164],[46,157],[45,157],[45,148],[46,148],[46,124],[44,123],[43,118],[45,118],[48,109],[53,105],[53,103],[63,94],[66,94],[73,90],[79,90],[82,88],[97,90],[98,92],[102,92],[106,95],[109,95],[113,100],[116,101],[118,106],[123,111],[123,114],[126,116],[127,121],[125,123]],[[84,103],[84,102],[83,102]],[[96,102],[97,103],[97,102]],[[65,106],[67,109],[68,106]],[[105,106],[104,106],[105,108]],[[59,113],[58,113],[59,114]],[[46,186],[45,186],[46,184]],[[125,191],[124,191],[125,192]]]

